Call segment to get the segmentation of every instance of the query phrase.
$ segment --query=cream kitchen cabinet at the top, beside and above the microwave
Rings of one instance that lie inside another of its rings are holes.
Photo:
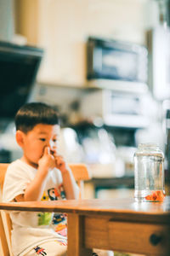
[[[86,85],[87,37],[144,44],[141,24],[146,2],[15,0],[16,32],[25,36],[28,44],[45,49],[37,79],[51,84]]]

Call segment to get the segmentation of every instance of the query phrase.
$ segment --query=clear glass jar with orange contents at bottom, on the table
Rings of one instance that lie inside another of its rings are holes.
[[[163,201],[165,197],[164,155],[152,143],[141,143],[134,154],[135,201]]]

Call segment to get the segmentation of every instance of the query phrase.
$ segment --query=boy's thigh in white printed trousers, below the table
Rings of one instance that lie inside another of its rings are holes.
[[[66,256],[67,246],[59,241],[47,241],[31,249],[25,256]]]

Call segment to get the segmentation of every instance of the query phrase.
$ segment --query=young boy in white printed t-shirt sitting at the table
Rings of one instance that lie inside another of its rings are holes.
[[[54,108],[27,103],[15,117],[16,142],[23,155],[9,167],[3,201],[77,199],[79,189],[57,153],[59,118]],[[12,212],[15,255],[66,255],[66,218],[50,212]]]

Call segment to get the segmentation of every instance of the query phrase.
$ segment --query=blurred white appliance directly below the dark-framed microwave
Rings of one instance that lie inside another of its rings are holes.
[[[102,119],[105,125],[145,128],[150,123],[146,114],[146,97],[113,90],[94,90],[82,97],[80,113],[92,122]]]

